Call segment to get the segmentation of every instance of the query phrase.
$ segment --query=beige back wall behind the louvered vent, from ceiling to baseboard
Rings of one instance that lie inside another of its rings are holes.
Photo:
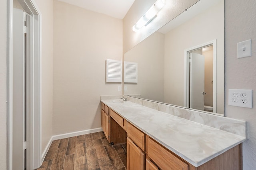
[[[106,59],[122,60],[122,20],[54,0],[53,134],[100,127]]]

